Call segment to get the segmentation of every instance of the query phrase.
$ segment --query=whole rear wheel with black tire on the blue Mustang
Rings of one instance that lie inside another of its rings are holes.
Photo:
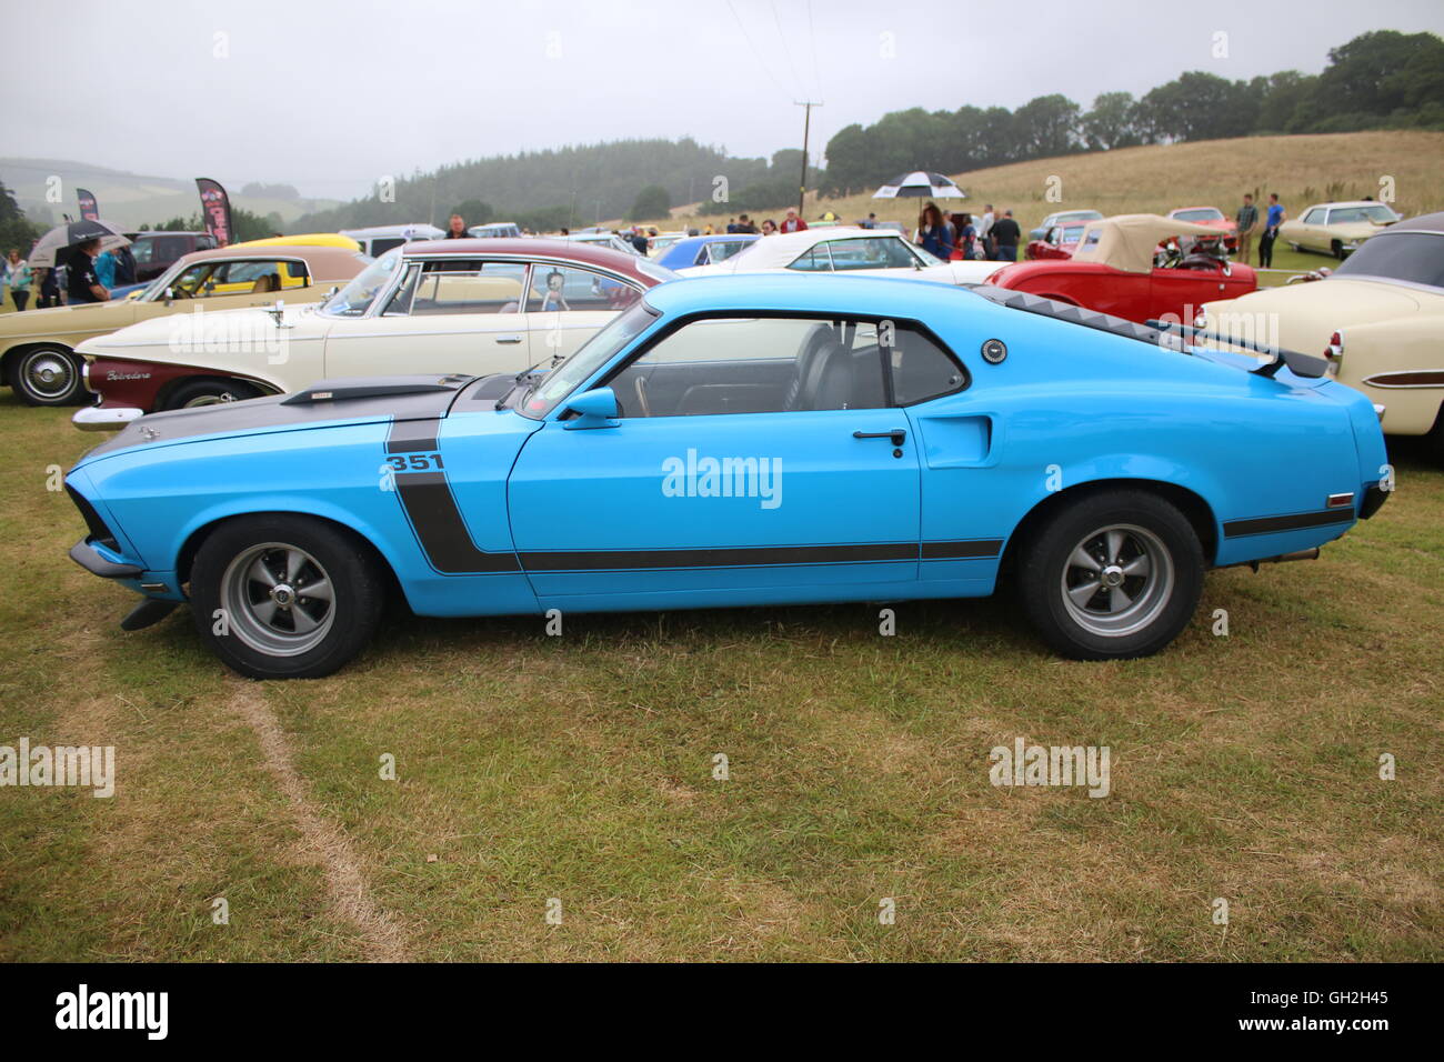
[[[1019,546],[1019,604],[1043,640],[1074,660],[1157,653],[1188,626],[1203,592],[1203,548],[1193,524],[1144,490],[1064,503]],[[1097,574],[1092,594],[1079,551]],[[1113,579],[1116,590],[1108,585]]]

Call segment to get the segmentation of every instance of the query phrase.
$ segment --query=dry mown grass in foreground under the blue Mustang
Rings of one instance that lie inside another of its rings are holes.
[[[1378,517],[1213,574],[1148,660],[970,601],[892,637],[866,605],[396,620],[261,685],[185,611],[121,633],[66,559],[49,467],[92,442],[0,392],[0,744],[118,774],[0,790],[0,959],[1444,958],[1444,472],[1411,451]],[[993,787],[1015,737],[1109,746],[1112,793]]]

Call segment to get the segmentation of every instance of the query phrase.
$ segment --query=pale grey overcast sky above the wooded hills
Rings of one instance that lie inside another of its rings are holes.
[[[1318,72],[1370,29],[1444,33],[1444,0],[6,0],[0,16],[0,155],[335,198],[625,137],[770,155],[801,139],[794,100],[825,103],[816,152],[905,107],[1086,107],[1186,69]]]

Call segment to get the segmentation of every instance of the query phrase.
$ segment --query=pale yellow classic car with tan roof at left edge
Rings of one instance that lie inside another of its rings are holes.
[[[365,257],[341,247],[232,244],[192,251],[129,299],[0,316],[0,380],[29,406],[66,406],[84,394],[75,348],[85,340],[198,305],[315,302],[365,264]]]

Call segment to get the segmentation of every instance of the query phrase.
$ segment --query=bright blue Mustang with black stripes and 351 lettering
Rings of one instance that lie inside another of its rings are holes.
[[[895,601],[1014,575],[1056,650],[1131,657],[1204,571],[1313,556],[1392,477],[1323,358],[1212,353],[991,286],[660,285],[546,373],[156,413],[71,470],[71,556],[189,600],[235,670],[318,676],[423,616]]]

